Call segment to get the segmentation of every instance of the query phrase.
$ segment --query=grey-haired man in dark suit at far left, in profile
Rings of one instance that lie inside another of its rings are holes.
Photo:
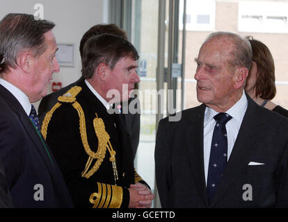
[[[73,206],[31,104],[59,71],[54,26],[17,13],[0,22],[0,158],[15,207]]]

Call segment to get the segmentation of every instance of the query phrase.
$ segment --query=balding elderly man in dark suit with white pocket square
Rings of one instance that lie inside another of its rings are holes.
[[[288,207],[288,121],[243,92],[249,42],[212,33],[197,62],[197,98],[159,122],[155,168],[162,207]]]

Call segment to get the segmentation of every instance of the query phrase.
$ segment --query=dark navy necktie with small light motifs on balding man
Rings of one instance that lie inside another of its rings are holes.
[[[232,117],[225,112],[220,112],[215,115],[214,119],[216,125],[212,137],[207,178],[209,203],[211,203],[211,200],[216,194],[216,190],[227,164],[227,131],[225,125]]]

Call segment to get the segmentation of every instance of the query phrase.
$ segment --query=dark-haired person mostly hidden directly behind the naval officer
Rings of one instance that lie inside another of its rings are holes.
[[[80,46],[79,46],[81,59],[83,59],[83,46],[87,42],[87,40],[90,37],[105,34],[105,33],[118,35],[120,37],[124,37],[126,40],[128,39],[125,31],[123,31],[121,28],[118,28],[118,26],[116,26],[115,24],[97,24],[95,26],[92,26],[91,28],[89,28],[88,31],[86,31],[86,33],[83,35],[81,39]],[[49,112],[49,110],[51,110],[51,108],[55,105],[55,103],[57,103],[58,96],[62,96],[63,94],[65,94],[65,92],[67,92],[68,89],[70,89],[74,85],[77,85],[77,83],[79,83],[81,80],[83,80],[82,77],[80,77],[79,80],[77,80],[76,82],[66,87],[63,87],[62,89],[59,89],[58,91],[53,92],[42,98],[39,108],[38,108],[38,118],[39,118],[40,124],[42,124],[42,121],[46,113]],[[128,103],[125,102],[123,103],[123,105],[129,105],[131,101],[133,101],[134,99],[138,100],[137,97],[132,97],[132,98],[129,98]],[[136,112],[135,114],[131,114],[130,112],[123,113],[123,117],[125,119],[127,131],[129,133],[129,137],[131,141],[131,148],[132,148],[133,156],[135,158],[138,144],[139,144],[139,136],[140,136],[140,112]]]

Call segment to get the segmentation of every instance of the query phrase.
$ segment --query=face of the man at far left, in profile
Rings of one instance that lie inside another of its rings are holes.
[[[37,58],[31,58],[31,89],[29,96],[31,102],[38,101],[47,94],[52,74],[60,71],[55,56],[58,46],[54,34],[48,31],[44,36],[46,51]]]

